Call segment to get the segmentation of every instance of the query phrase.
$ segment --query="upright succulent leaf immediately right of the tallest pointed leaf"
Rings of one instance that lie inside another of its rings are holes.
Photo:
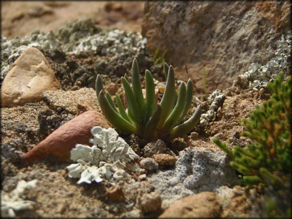
[[[146,85],[146,98],[145,98],[145,117],[144,117],[144,128],[150,117],[154,112],[155,103],[155,86],[152,74],[150,71],[145,71],[145,85]]]

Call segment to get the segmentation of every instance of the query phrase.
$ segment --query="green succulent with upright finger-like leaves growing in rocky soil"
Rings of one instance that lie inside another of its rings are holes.
[[[116,93],[117,107],[111,95],[104,91],[100,74],[96,78],[96,95],[106,119],[119,131],[137,133],[146,140],[172,140],[190,132],[200,121],[202,108],[197,107],[190,119],[181,123],[187,114],[193,97],[193,83],[180,84],[178,95],[175,90],[173,67],[164,62],[166,87],[160,103],[155,100],[154,80],[150,71],[145,71],[146,98],[144,99],[137,60],[132,65],[132,88],[127,74],[121,77],[129,107],[125,110]],[[181,123],[181,124],[180,124]]]

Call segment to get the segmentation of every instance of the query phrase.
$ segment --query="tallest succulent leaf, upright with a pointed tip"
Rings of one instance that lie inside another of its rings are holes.
[[[136,102],[138,104],[140,112],[144,114],[145,102],[144,102],[144,96],[142,92],[141,81],[140,81],[138,62],[135,58],[133,60],[133,65],[132,65],[132,88],[133,88],[133,93],[135,95]]]

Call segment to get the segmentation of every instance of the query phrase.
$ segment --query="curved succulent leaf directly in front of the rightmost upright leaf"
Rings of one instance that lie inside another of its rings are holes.
[[[166,119],[162,129],[159,131],[159,133],[163,134],[171,129],[171,127],[177,122],[178,118],[180,117],[180,114],[183,112],[184,106],[185,106],[185,100],[186,100],[186,87],[185,83],[182,82],[180,84],[180,91],[178,95],[178,102],[176,103],[173,111],[169,115],[169,117]]]

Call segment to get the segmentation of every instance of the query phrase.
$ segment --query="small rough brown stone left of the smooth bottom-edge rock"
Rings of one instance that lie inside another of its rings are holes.
[[[151,192],[150,194],[143,194],[138,197],[137,208],[143,212],[158,211],[161,208],[162,199],[158,192]]]

